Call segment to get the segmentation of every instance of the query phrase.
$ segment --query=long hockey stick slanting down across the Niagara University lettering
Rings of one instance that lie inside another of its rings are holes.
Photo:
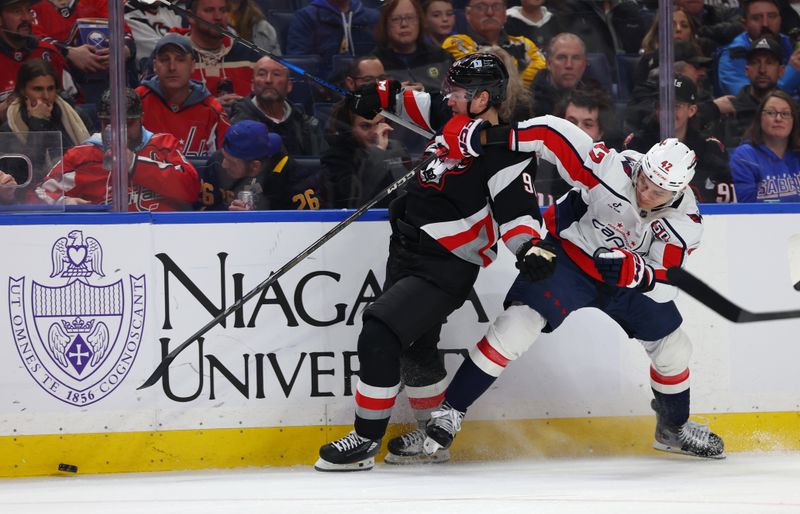
[[[350,216],[340,221],[335,227],[333,227],[328,232],[323,234],[322,237],[311,243],[311,245],[308,248],[297,254],[297,256],[292,258],[289,262],[278,268],[276,271],[270,273],[270,275],[264,281],[258,284],[249,293],[241,297],[234,304],[232,304],[230,307],[228,307],[219,315],[217,315],[217,317],[215,317],[214,319],[203,325],[203,327],[200,330],[189,336],[188,339],[186,339],[184,342],[176,346],[175,349],[173,349],[166,356],[164,356],[164,358],[158,364],[153,373],[137,389],[145,389],[158,382],[158,380],[164,375],[164,372],[167,370],[169,365],[172,364],[172,361],[175,360],[175,357],[177,357],[178,354],[180,354],[183,350],[185,350],[197,338],[199,338],[200,336],[211,330],[217,323],[219,323],[223,319],[233,314],[234,311],[240,309],[242,305],[244,305],[247,301],[252,299],[257,294],[260,294],[261,291],[274,284],[275,281],[278,280],[278,278],[280,278],[284,273],[295,267],[300,261],[304,260],[306,257],[314,253],[317,249],[319,249],[320,246],[324,245],[331,238],[333,238],[333,236],[344,230],[345,227],[350,225],[357,218],[361,217],[361,215],[367,212],[367,210],[370,207],[374,206],[376,203],[380,202],[381,200],[392,194],[394,191],[405,186],[406,183],[409,180],[411,180],[419,170],[425,168],[425,166],[427,166],[431,161],[433,161],[438,157],[442,157],[444,155],[446,155],[446,150],[442,149],[439,152],[433,153],[428,157],[426,157],[425,159],[423,159],[422,162],[420,162],[414,167],[414,169],[412,169],[399,179],[395,180],[394,182],[386,186],[386,188],[384,188],[381,192],[375,195],[375,197],[372,198],[372,200],[368,201],[366,204],[362,205],[357,211],[353,212]]]

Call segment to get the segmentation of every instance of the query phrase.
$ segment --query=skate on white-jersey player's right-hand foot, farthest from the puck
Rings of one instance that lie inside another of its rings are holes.
[[[725,444],[722,442],[722,438],[712,432],[708,425],[687,420],[679,427],[669,426],[661,421],[658,403],[653,400],[650,406],[656,411],[657,420],[653,448],[709,459],[725,458]]]

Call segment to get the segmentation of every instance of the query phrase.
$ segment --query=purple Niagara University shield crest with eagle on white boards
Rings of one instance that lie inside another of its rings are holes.
[[[72,230],[50,251],[47,283],[9,278],[14,342],[28,373],[55,398],[76,406],[108,396],[139,351],[145,277],[108,280],[100,242]]]

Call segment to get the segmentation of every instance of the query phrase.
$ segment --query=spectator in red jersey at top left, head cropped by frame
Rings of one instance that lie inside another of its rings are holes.
[[[108,19],[108,2],[106,0],[43,0],[31,7],[35,21],[33,33],[43,39],[49,39],[62,51],[69,62],[70,72],[75,78],[82,101],[94,103],[102,92],[108,88],[108,70],[111,66],[108,44],[96,45],[89,41],[76,44],[70,41],[74,27],[81,20],[99,18]],[[125,26],[125,48],[129,85],[137,83],[136,43],[130,28]]]

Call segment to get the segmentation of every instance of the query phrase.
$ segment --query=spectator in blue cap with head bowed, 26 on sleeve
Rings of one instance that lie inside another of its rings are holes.
[[[317,210],[319,172],[304,174],[263,123],[231,125],[201,170],[199,210]],[[244,192],[244,194],[242,194]]]

